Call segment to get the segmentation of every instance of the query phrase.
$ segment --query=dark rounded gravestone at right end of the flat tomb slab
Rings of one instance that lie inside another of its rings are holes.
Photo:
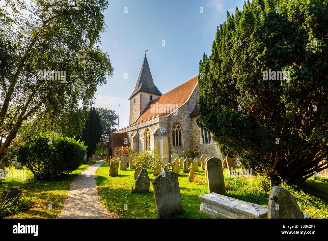
[[[270,192],[268,218],[304,218],[297,202],[283,187],[274,186]]]

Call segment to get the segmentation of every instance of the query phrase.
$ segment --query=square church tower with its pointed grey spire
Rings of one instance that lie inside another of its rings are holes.
[[[142,63],[138,81],[135,89],[130,96],[130,123],[133,124],[141,113],[145,110],[150,101],[161,96],[162,93],[154,84],[152,73],[150,72],[147,57],[145,54],[144,62]]]

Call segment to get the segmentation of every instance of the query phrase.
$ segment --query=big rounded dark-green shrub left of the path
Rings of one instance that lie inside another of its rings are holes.
[[[47,135],[28,140],[17,152],[18,161],[31,170],[35,180],[53,180],[78,168],[86,147],[74,138]]]

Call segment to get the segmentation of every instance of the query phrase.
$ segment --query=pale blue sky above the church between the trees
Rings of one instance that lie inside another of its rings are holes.
[[[242,9],[243,4],[242,0],[111,0],[104,13],[107,28],[101,35],[101,47],[110,55],[115,70],[107,84],[98,89],[95,106],[118,113],[120,105],[119,129],[128,126],[128,98],[144,50],[148,50],[154,83],[164,94],[198,74],[203,52],[211,53],[216,26],[226,20],[227,10],[234,14],[236,6]]]

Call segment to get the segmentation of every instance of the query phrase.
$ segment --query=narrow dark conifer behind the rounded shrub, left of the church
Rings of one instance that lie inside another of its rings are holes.
[[[81,114],[86,109],[80,109]],[[76,140],[81,140],[84,145],[87,146],[87,157],[90,157],[96,149],[96,145],[100,141],[102,126],[100,123],[100,115],[95,107],[89,110],[88,119],[85,123],[85,128],[82,131],[80,137],[76,137]]]

